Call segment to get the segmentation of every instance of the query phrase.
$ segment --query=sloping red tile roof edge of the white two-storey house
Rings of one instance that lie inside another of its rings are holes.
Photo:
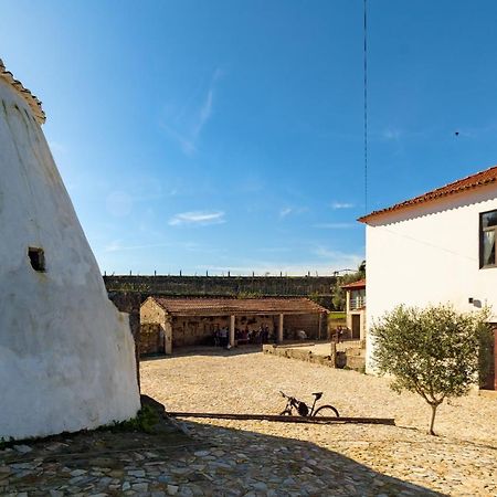
[[[437,188],[436,190],[429,191],[427,193],[423,193],[422,195],[414,197],[413,199],[405,200],[404,202],[395,203],[394,205],[387,209],[373,211],[370,214],[359,218],[358,221],[360,221],[361,223],[367,223],[371,219],[381,214],[399,211],[412,205],[419,205],[420,203],[431,202],[432,200],[441,199],[443,197],[450,197],[468,190],[474,190],[475,188],[485,187],[491,183],[497,183],[497,166],[493,166],[485,171],[480,171],[476,175],[472,175],[467,178],[454,181],[446,184],[445,187]]]

